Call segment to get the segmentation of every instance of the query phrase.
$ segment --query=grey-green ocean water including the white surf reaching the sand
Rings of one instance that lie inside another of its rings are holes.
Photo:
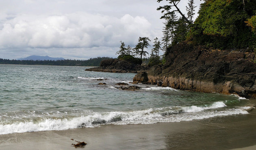
[[[115,84],[132,85],[135,74],[86,68],[0,65],[0,134],[225,118],[250,107],[237,95],[142,84],[122,91]]]

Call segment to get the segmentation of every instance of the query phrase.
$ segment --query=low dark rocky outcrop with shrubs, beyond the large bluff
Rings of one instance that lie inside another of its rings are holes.
[[[114,72],[114,73],[125,73],[132,72],[137,73],[138,70],[145,70],[147,68],[135,64],[130,63],[128,61],[124,61],[121,59],[106,59],[101,61],[100,67],[89,68],[85,71],[96,71],[96,72]]]

